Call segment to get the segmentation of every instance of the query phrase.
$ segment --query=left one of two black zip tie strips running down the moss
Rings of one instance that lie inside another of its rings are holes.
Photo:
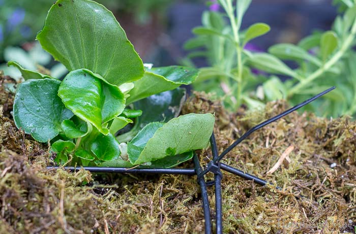
[[[195,172],[196,175],[198,176],[198,184],[200,185],[201,188],[201,199],[203,201],[203,211],[204,211],[204,220],[205,220],[205,234],[210,234],[212,233],[212,221],[210,218],[210,205],[209,205],[209,197],[207,197],[207,190],[206,190],[206,184],[204,177],[199,177],[199,175],[202,172],[199,158],[196,155],[195,151],[193,153],[193,160],[194,160],[194,165],[195,165]]]

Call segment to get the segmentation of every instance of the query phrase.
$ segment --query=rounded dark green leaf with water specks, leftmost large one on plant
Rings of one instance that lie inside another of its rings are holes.
[[[39,142],[53,139],[62,130],[61,123],[73,113],[57,96],[61,81],[55,79],[28,80],[17,89],[14,120],[18,128]]]

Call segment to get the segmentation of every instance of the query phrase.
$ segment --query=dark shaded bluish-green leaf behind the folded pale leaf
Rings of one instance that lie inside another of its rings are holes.
[[[168,122],[178,117],[186,99],[184,88],[176,88],[161,92],[135,102],[135,109],[142,110],[142,115],[137,118],[134,127],[127,133],[118,136],[118,142],[128,142],[137,132],[151,122]]]

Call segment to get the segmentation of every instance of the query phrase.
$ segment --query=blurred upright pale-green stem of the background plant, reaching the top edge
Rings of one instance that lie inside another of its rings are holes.
[[[223,2],[223,1],[222,1]],[[225,2],[226,4],[223,5],[225,8],[225,11],[229,17],[231,28],[232,28],[232,33],[233,33],[233,38],[236,43],[236,56],[238,59],[238,77],[236,77],[236,81],[238,82],[238,91],[236,93],[236,107],[239,107],[241,105],[241,92],[242,92],[242,48],[240,44],[240,37],[239,37],[239,29],[238,26],[236,25],[236,18],[234,15],[233,7],[232,7],[232,1],[227,0]]]

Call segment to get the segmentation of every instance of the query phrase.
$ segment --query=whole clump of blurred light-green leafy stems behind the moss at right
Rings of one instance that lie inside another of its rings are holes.
[[[268,53],[252,52],[246,47],[250,40],[269,31],[270,27],[256,23],[241,30],[241,22],[250,0],[219,0],[225,15],[204,12],[203,26],[193,29],[195,38],[185,44],[186,49],[205,48],[194,51],[189,57],[207,57],[211,66],[202,68],[195,87],[216,91],[224,97],[225,104],[233,109],[241,104],[256,108],[275,99],[286,98],[291,104],[314,95],[325,87],[339,87],[335,92],[308,108],[319,115],[338,116],[356,113],[356,79],[352,62],[355,52],[352,46],[356,35],[356,6],[346,1],[343,16],[338,16],[333,30],[315,32],[298,45],[277,44]],[[293,61],[291,69],[282,60]],[[257,69],[254,74],[253,69]],[[287,77],[282,82],[280,75]],[[256,86],[261,84],[256,90]],[[222,87],[218,89],[218,87]],[[323,103],[323,105],[321,105]]]

